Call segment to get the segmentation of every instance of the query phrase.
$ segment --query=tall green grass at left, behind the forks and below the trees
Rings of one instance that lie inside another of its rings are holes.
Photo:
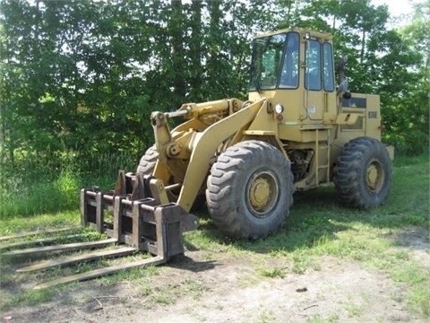
[[[83,155],[64,153],[46,158],[26,158],[0,168],[0,218],[55,213],[77,209],[79,190],[113,188],[119,169],[133,171],[136,159],[128,154]]]

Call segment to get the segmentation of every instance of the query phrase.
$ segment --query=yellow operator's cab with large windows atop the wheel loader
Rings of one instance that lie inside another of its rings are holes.
[[[281,104],[284,121],[315,124],[335,116],[330,34],[294,29],[257,36],[250,72],[249,99]]]

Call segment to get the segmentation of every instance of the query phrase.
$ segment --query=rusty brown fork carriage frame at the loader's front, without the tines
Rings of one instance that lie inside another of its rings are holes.
[[[183,232],[195,230],[198,218],[168,202],[160,179],[119,170],[115,190],[82,188],[81,223],[120,243],[168,259],[184,253]]]

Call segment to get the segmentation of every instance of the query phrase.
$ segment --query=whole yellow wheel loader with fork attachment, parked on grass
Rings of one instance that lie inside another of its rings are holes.
[[[346,205],[366,209],[385,200],[393,148],[381,143],[379,96],[348,92],[343,63],[336,84],[330,34],[288,29],[259,35],[250,72],[248,100],[152,112],[155,143],[137,170],[121,170],[112,191],[82,189],[82,225],[105,232],[109,243],[157,256],[127,266],[183,253],[183,232],[198,226],[190,210],[204,200],[219,231],[234,239],[279,231],[295,190],[332,181]],[[185,121],[169,129],[169,118]]]

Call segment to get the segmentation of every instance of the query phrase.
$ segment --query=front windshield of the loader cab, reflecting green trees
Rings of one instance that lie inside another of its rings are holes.
[[[297,88],[297,32],[254,39],[250,90]]]

